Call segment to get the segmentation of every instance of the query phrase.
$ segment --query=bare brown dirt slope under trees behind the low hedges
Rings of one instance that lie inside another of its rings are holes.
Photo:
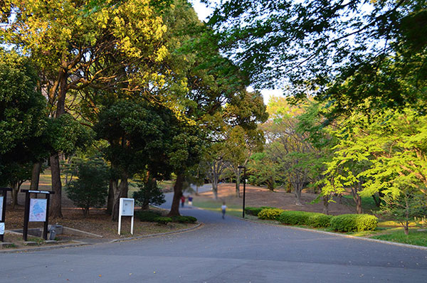
[[[243,185],[241,185],[241,196],[243,196]],[[295,194],[286,193],[285,191],[269,191],[267,188],[260,188],[257,186],[246,185],[246,207],[254,206],[271,206],[274,208],[282,208],[285,210],[302,210],[322,213],[323,203],[311,203],[317,198],[315,193],[302,192],[301,203],[296,205]],[[206,198],[211,200],[214,198],[212,191],[200,193],[200,196],[195,198]],[[240,204],[242,198],[236,198],[236,184],[235,183],[221,183],[218,185],[218,198],[221,201],[226,201],[228,204]],[[356,210],[349,204],[330,203],[329,214],[340,215],[344,213],[355,213]]]

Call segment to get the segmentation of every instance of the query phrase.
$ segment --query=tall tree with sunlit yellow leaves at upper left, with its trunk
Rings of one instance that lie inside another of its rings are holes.
[[[89,0],[2,1],[1,43],[37,63],[51,116],[60,117],[70,90],[91,86],[132,92],[158,79],[150,65],[167,53],[160,42],[166,27],[152,3],[105,1],[94,6]],[[55,195],[50,212],[60,217],[58,152],[51,154],[51,171]]]

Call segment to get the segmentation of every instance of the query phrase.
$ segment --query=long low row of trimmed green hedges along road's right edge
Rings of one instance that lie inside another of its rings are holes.
[[[307,225],[315,228],[330,227],[339,232],[375,230],[378,224],[378,218],[369,214],[332,216],[323,213],[281,210],[279,208],[250,208],[248,211],[256,212],[260,219],[278,220],[280,223],[288,225]]]

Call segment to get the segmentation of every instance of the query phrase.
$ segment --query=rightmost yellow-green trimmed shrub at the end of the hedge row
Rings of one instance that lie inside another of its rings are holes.
[[[343,214],[331,218],[331,228],[339,232],[374,230],[378,218],[369,214]]]

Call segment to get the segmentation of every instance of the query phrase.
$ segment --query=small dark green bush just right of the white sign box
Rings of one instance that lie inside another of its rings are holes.
[[[157,181],[152,178],[145,183],[137,183],[139,191],[133,193],[132,198],[135,198],[137,205],[141,205],[143,209],[148,208],[149,203],[155,205],[161,205],[166,202],[164,200],[164,194],[157,186]]]

